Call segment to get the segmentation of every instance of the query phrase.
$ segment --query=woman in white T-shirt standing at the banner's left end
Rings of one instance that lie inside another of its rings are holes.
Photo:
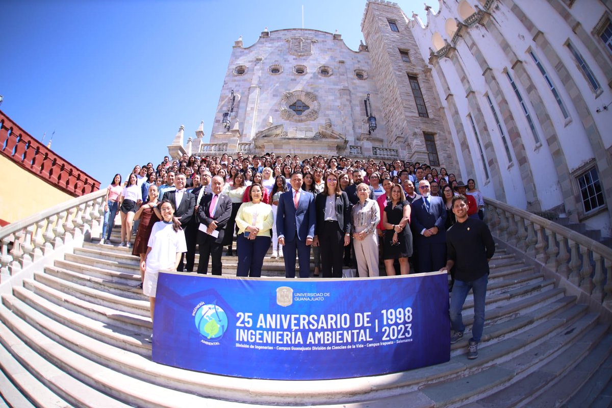
[[[155,311],[155,292],[157,292],[157,278],[160,270],[174,269],[179,266],[182,254],[187,251],[185,233],[181,223],[173,220],[174,202],[169,199],[162,201],[160,207],[162,221],[154,224],[147,243],[147,254],[144,260],[143,293],[151,302],[151,321]],[[151,342],[153,335],[147,338]]]

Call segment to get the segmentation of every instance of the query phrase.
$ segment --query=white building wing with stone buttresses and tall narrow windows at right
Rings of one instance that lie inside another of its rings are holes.
[[[441,1],[401,21],[428,58],[461,174],[611,232],[610,1]],[[394,8],[393,6],[386,6]]]

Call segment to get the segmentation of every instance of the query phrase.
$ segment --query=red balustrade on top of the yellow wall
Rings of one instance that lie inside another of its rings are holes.
[[[100,188],[98,180],[40,143],[2,111],[0,154],[73,197]]]

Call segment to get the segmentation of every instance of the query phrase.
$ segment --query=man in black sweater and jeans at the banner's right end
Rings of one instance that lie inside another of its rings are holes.
[[[461,309],[470,289],[474,294],[474,324],[469,339],[468,358],[478,357],[478,343],[485,325],[485,296],[489,276],[489,259],[495,252],[495,243],[487,224],[468,218],[468,199],[453,197],[453,213],[457,223],[446,233],[447,261],[441,270],[453,272],[455,283],[450,295],[450,343],[463,338]]]

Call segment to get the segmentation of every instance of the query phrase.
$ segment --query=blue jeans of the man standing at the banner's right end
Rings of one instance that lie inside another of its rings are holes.
[[[463,325],[463,318],[461,317],[461,308],[463,308],[469,289],[472,289],[474,294],[474,324],[472,325],[472,338],[470,340],[476,343],[480,343],[482,329],[485,327],[485,295],[487,295],[488,281],[489,276],[487,274],[471,282],[455,279],[453,291],[450,294],[450,327],[455,332],[463,333],[465,325]]]

